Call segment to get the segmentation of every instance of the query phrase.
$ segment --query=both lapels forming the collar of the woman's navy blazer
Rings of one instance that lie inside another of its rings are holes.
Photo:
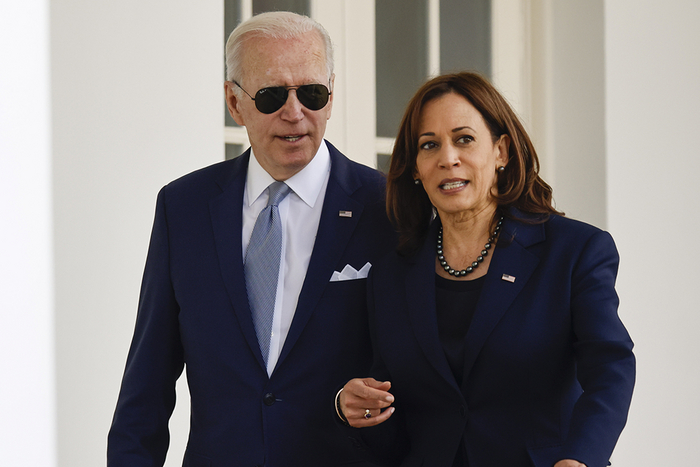
[[[516,210],[511,210],[510,214],[516,219],[524,217]],[[407,259],[405,289],[408,313],[416,339],[426,358],[455,390],[460,391],[445,357],[437,326],[434,276],[435,240],[439,227],[438,219],[431,224],[423,247]],[[489,272],[467,333],[464,381],[468,380],[489,335],[539,263],[539,258],[528,251],[528,247],[544,238],[542,224],[525,224],[510,218],[504,220],[501,243],[494,249]],[[508,239],[511,240],[510,243]],[[514,282],[504,280],[504,274],[514,277]]]

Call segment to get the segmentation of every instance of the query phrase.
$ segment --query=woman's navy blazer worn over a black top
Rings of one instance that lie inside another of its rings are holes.
[[[438,336],[438,224],[414,256],[387,257],[370,275],[373,372],[391,381],[396,412],[362,437],[386,448],[393,420],[410,444],[393,453],[404,466],[451,467],[461,441],[470,467],[607,465],[635,375],[610,235],[560,216],[504,221],[459,387]]]

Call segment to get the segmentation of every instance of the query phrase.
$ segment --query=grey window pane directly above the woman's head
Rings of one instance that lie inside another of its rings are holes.
[[[491,1],[440,0],[440,71],[491,77]]]

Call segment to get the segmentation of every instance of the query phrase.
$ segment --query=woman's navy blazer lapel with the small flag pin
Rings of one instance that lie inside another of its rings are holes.
[[[513,238],[509,245],[494,250],[489,273],[481,291],[474,318],[467,332],[464,381],[489,335],[525,287],[539,263],[539,258],[527,247],[544,240],[543,224],[523,224],[506,219],[501,239]],[[514,277],[514,282],[504,275]]]

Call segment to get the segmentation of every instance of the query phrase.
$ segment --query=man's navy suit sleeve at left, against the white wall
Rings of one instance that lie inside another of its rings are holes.
[[[178,304],[170,277],[165,189],[158,194],[134,337],[112,427],[108,467],[162,466],[183,369]]]

